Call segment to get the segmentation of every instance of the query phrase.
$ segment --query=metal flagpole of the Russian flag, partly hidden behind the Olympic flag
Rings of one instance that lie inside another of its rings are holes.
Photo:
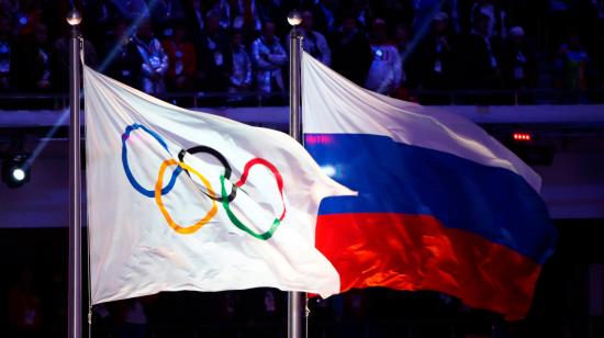
[[[300,128],[300,50],[302,37],[298,25],[302,16],[298,11],[288,15],[288,22],[292,25],[290,32],[290,136],[301,142]],[[306,294],[304,292],[288,293],[288,338],[302,338],[306,336]]]

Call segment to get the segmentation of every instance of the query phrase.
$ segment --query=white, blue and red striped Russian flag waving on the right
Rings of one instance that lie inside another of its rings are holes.
[[[340,291],[433,290],[523,318],[557,233],[540,178],[458,115],[357,87],[302,57],[304,143],[357,196],[323,200],[316,247]]]

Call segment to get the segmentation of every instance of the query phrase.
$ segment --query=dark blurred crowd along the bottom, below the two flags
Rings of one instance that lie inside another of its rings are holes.
[[[11,273],[0,293],[5,312],[0,313],[0,336],[66,337],[66,273],[45,270],[23,266]],[[490,333],[491,326],[503,324],[499,315],[471,311],[436,292],[354,290],[326,300],[312,297],[307,306],[310,337],[451,337],[454,326],[466,337],[462,333]],[[82,318],[87,312],[82,308]],[[91,337],[99,338],[281,338],[287,336],[287,293],[268,288],[163,292],[97,304],[90,316]],[[465,327],[467,322],[472,324]]]

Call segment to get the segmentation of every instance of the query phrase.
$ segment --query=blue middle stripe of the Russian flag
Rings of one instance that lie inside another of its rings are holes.
[[[543,263],[556,230],[538,193],[517,173],[366,134],[305,134],[305,147],[358,196],[325,199],[320,215],[432,215]],[[544,238],[545,237],[545,238]]]

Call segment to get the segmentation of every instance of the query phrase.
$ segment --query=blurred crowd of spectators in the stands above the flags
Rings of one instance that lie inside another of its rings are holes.
[[[604,83],[600,0],[81,0],[86,64],[149,94],[284,92],[290,26],[349,80],[410,89]],[[69,1],[0,0],[0,92],[67,89]]]

